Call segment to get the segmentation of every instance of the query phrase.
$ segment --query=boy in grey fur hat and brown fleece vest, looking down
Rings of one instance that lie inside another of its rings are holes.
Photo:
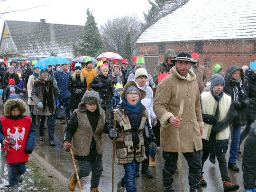
[[[101,99],[98,92],[88,91],[75,109],[64,134],[66,151],[73,143],[74,157],[78,161],[79,178],[88,176],[91,172],[91,192],[99,192],[102,174],[102,152],[104,127],[108,123],[101,109]],[[75,173],[71,175],[68,188],[75,190],[77,180]]]

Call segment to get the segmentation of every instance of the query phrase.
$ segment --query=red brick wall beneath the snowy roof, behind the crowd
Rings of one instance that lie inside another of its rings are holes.
[[[215,41],[204,42],[203,53],[199,54],[201,65],[204,66],[204,60],[210,58],[210,66],[206,67],[208,77],[213,74],[212,67],[214,63],[219,63],[224,72],[230,65],[242,67],[249,66],[250,61],[256,60],[255,41]],[[165,50],[174,49],[176,53],[182,50],[194,51],[194,42],[165,42]],[[140,55],[157,55],[159,61],[163,62],[164,52],[159,54],[158,43],[139,44]]]

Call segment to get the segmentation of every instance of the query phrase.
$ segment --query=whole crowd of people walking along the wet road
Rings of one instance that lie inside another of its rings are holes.
[[[116,162],[124,167],[117,192],[136,192],[135,178],[140,174],[154,177],[148,167],[158,166],[155,155],[159,142],[165,161],[165,192],[174,192],[173,176],[181,154],[189,166],[190,192],[207,185],[203,165],[208,158],[212,163],[216,158],[219,162],[224,192],[236,191],[239,185],[231,181],[228,169],[239,171],[236,162],[247,136],[242,166],[244,188],[245,192],[255,192],[256,62],[247,68],[232,65],[226,73],[215,64],[208,92],[204,91],[206,69],[200,65],[198,53],[181,51],[176,55],[175,50],[166,50],[164,62],[155,67],[153,77],[144,57],[134,56],[132,61],[130,68],[128,59],[122,59],[121,65],[117,60],[110,64],[101,59],[93,66],[90,57],[74,66],[19,66],[11,61],[8,67],[0,63],[5,102],[0,142],[2,150],[7,150],[12,191],[17,192],[22,182],[36,128],[39,140],[46,141],[47,127],[48,143],[55,146],[55,121],[62,110],[61,123],[66,124],[64,149],[68,151],[72,146],[78,162],[78,172],[71,175],[68,184],[71,191],[78,180],[91,173],[91,192],[99,192],[105,133],[115,140]],[[24,94],[30,116],[25,115]],[[241,133],[243,125],[246,128]]]

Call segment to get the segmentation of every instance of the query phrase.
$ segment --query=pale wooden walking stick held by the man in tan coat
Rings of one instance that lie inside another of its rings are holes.
[[[181,118],[183,114],[183,107],[184,107],[184,99],[181,100],[180,110],[179,114],[177,115],[177,118]],[[181,141],[180,141],[180,134],[179,134],[179,128],[176,128],[176,139],[178,142],[178,167],[180,169],[180,182],[182,186],[182,192],[184,192],[184,184],[183,184],[183,174],[182,174],[182,152],[181,152]]]

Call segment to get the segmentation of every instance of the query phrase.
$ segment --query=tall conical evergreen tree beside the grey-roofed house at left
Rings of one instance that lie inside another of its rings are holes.
[[[89,8],[86,11],[87,21],[84,26],[82,38],[78,45],[73,46],[74,56],[87,55],[96,57],[102,52],[103,42],[95,18]]]

